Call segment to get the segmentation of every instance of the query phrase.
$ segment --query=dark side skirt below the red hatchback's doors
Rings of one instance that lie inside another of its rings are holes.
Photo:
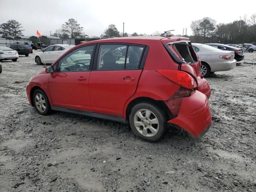
[[[52,110],[56,110],[56,111],[73,113],[73,114],[84,115],[84,116],[89,116],[89,117],[96,117],[96,118],[100,118],[100,119],[106,119],[106,120],[117,121],[117,122],[121,122],[124,124],[128,124],[128,120],[121,118],[121,117],[104,115],[104,114],[99,114],[99,113],[92,113],[92,112],[88,112],[88,111],[80,111],[80,110],[76,110],[76,109],[62,108],[62,107],[51,107],[51,108],[52,108]]]

